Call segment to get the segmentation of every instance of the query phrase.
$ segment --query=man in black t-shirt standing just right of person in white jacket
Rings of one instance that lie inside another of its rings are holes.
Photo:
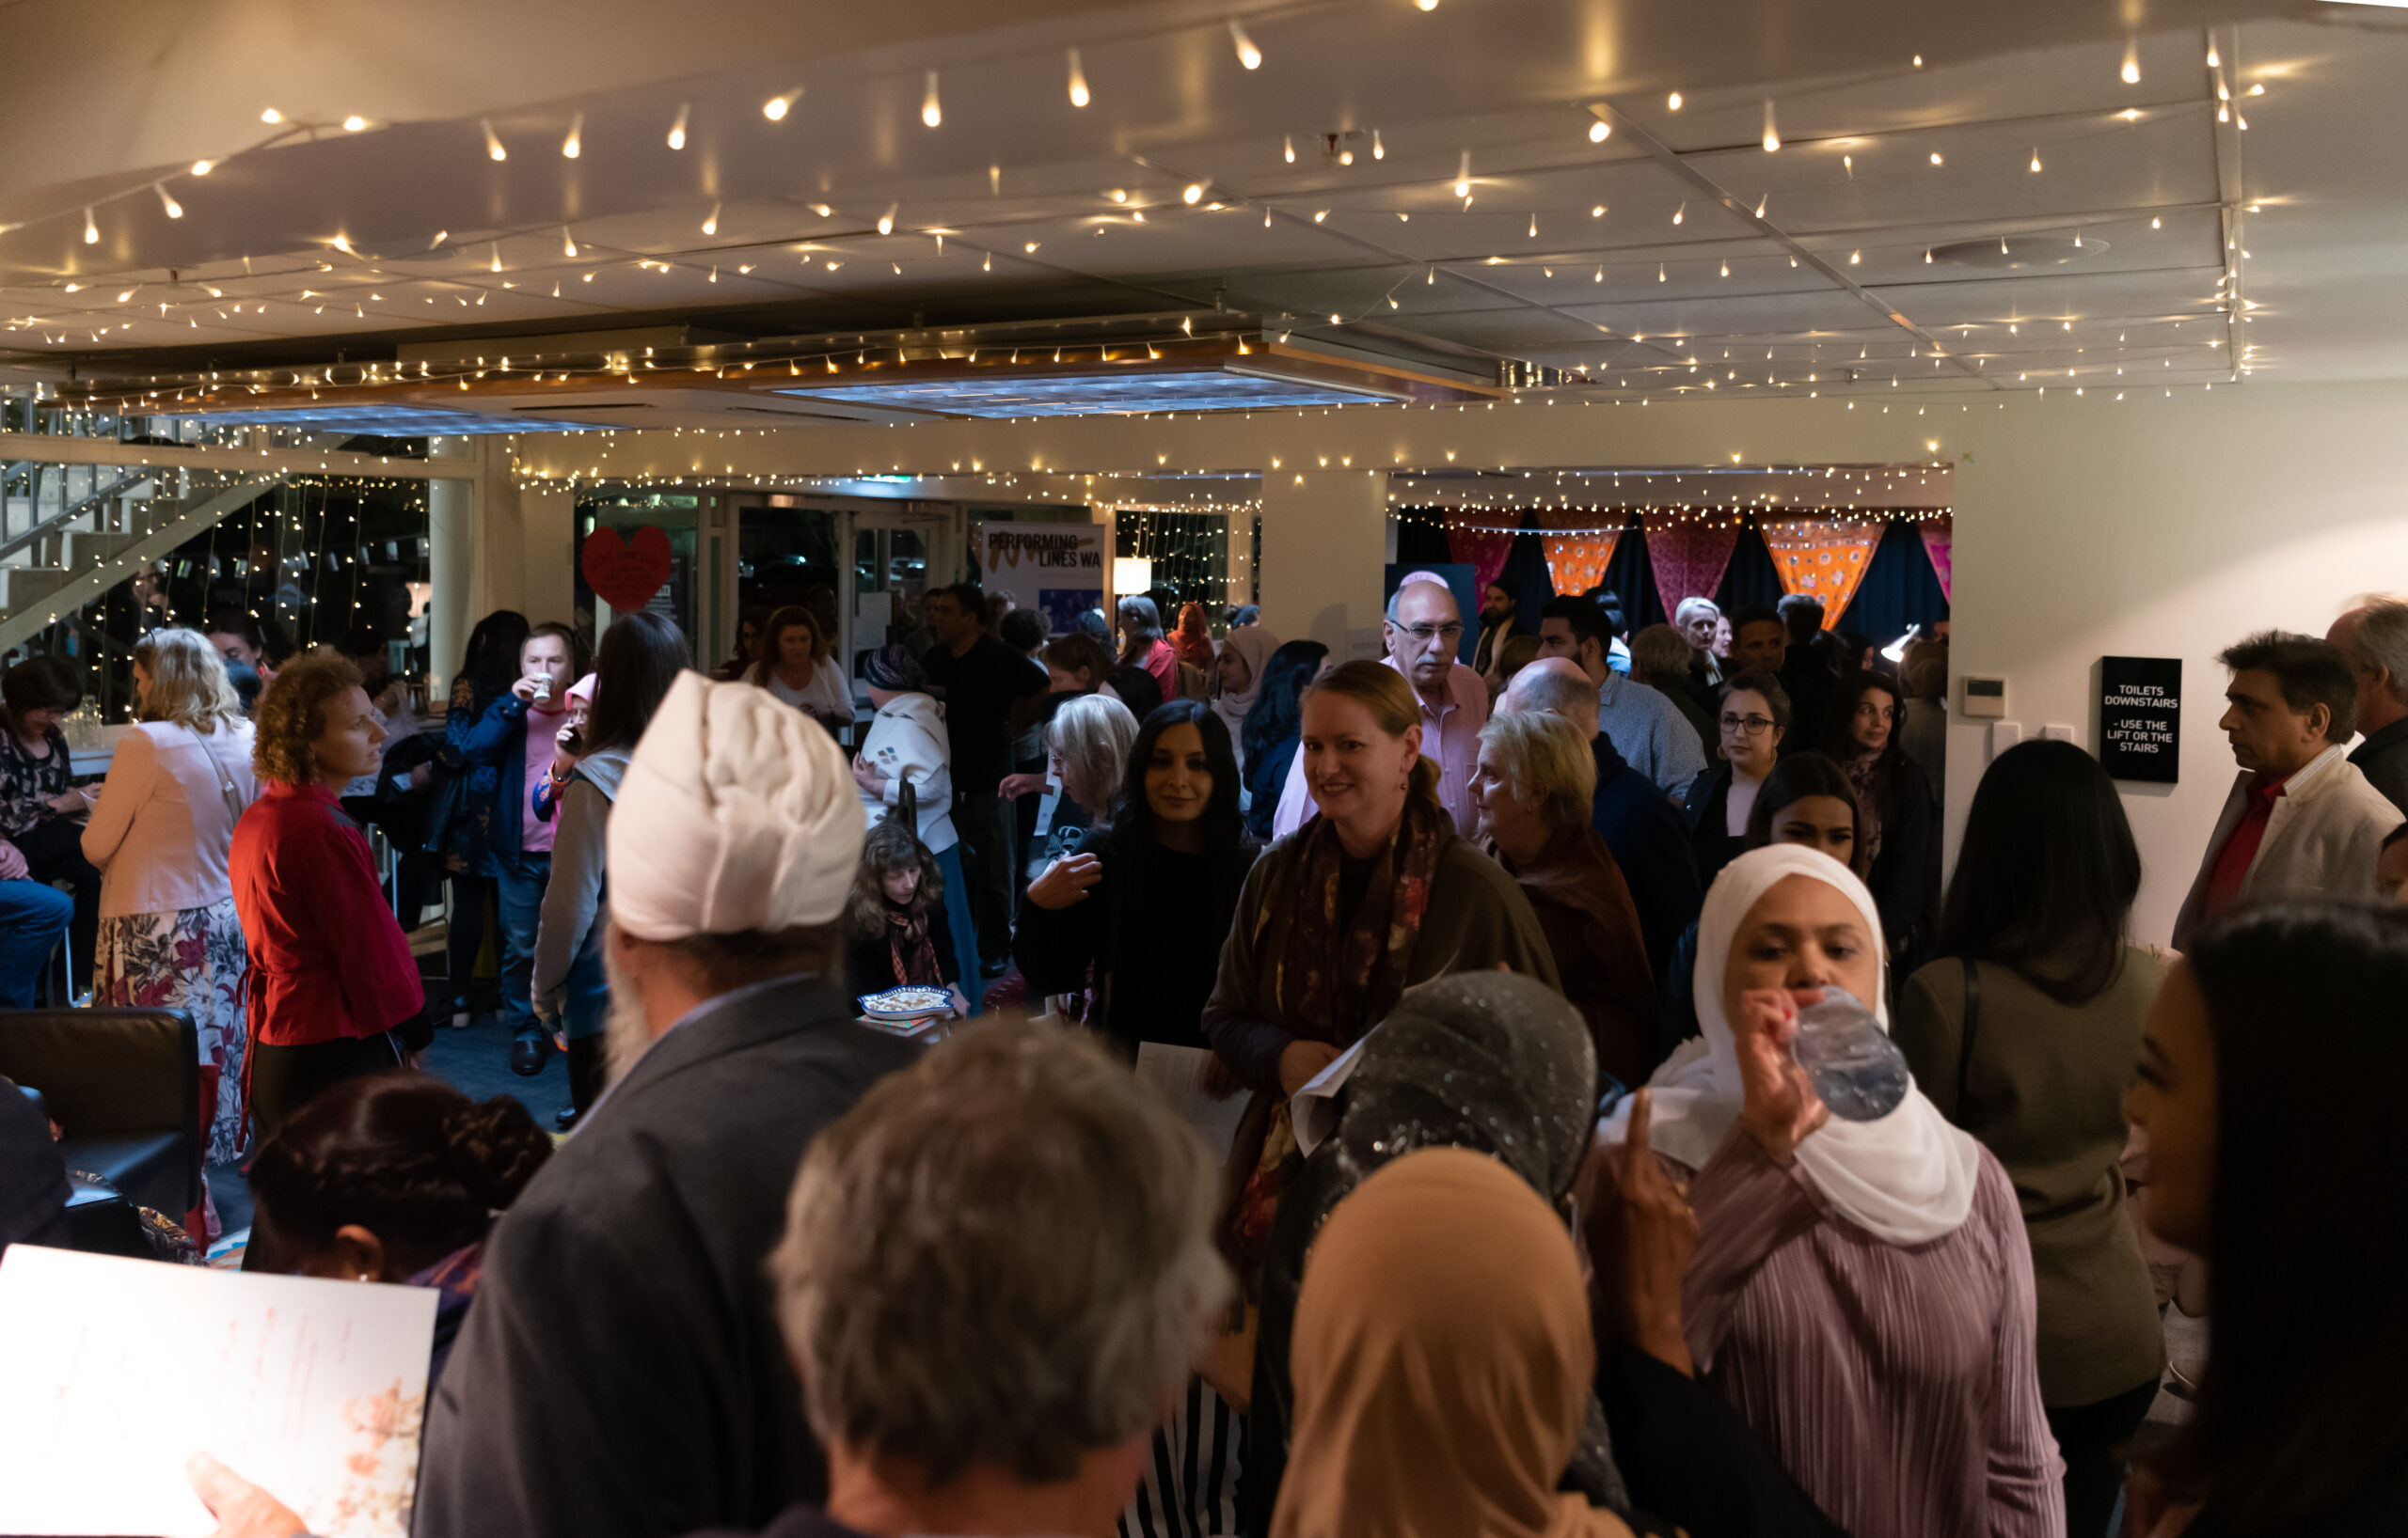
[[[1011,910],[1021,893],[1019,838],[1011,801],[997,785],[1011,773],[1011,708],[1043,693],[1045,669],[987,633],[987,597],[975,582],[927,595],[927,628],[937,645],[920,657],[944,700],[944,734],[954,768],[954,830],[961,874],[970,891],[980,972],[1002,977],[1011,965]]]

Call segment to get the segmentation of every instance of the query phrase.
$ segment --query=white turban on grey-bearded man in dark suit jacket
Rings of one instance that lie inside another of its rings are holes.
[[[609,917],[648,941],[826,924],[862,857],[862,797],[816,720],[684,672],[609,818]]]

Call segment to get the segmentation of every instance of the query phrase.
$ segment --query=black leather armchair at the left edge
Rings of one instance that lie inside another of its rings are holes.
[[[183,1220],[200,1206],[200,1030],[181,1008],[5,1008],[0,1078],[41,1095],[67,1170]]]

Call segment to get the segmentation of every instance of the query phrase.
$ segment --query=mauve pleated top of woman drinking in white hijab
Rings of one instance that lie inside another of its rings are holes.
[[[2061,1538],[2032,1252],[1984,1148],[1972,1213],[1888,1244],[1739,1126],[1690,1189],[1698,1372],[1854,1538]]]

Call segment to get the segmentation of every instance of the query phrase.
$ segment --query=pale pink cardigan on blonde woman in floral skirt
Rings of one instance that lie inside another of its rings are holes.
[[[209,749],[250,804],[258,797],[250,722],[219,727]],[[84,859],[101,866],[104,919],[224,903],[234,895],[226,879],[231,845],[234,814],[190,729],[142,722],[118,739],[108,782],[84,828]]]

